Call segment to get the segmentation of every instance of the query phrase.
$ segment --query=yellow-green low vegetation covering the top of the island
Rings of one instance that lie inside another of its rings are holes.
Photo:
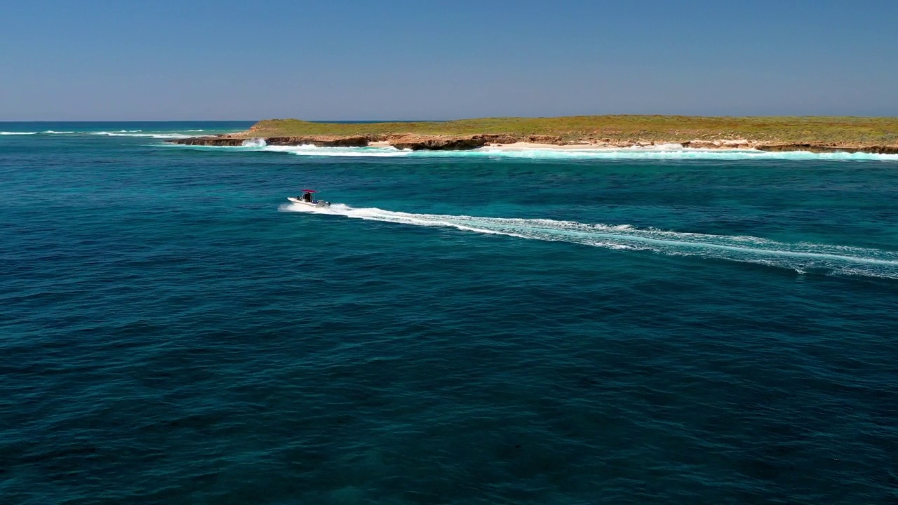
[[[750,139],[764,142],[898,145],[898,118],[571,116],[484,118],[412,123],[318,123],[263,120],[252,136],[378,136],[506,134],[559,136],[565,140],[686,141]]]

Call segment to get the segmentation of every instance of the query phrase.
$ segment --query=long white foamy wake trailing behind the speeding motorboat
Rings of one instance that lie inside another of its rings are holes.
[[[799,272],[898,279],[898,252],[844,245],[788,244],[753,236],[682,233],[629,225],[585,224],[553,219],[409,214],[381,208],[334,204],[311,208],[284,204],[280,210],[331,214],[414,226],[447,226],[459,230],[520,238],[568,242],[606,249],[744,261]]]

